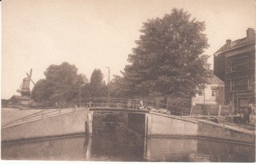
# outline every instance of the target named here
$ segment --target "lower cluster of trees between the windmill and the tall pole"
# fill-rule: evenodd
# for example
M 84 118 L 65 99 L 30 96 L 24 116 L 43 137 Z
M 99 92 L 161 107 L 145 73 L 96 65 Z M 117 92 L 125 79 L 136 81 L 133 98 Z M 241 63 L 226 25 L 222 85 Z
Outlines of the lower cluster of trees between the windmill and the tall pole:
M 107 96 L 108 86 L 103 81 L 103 74 L 95 69 L 90 78 L 83 73 L 77 75 L 77 68 L 66 62 L 60 65 L 52 64 L 44 72 L 45 79 L 36 82 L 31 97 L 37 101 L 49 100 L 63 103 L 79 98 Z

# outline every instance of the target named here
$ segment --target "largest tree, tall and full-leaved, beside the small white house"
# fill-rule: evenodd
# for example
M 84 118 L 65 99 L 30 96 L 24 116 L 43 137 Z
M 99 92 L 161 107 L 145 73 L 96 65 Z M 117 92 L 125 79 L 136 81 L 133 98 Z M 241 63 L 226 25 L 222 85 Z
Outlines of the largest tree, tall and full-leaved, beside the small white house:
M 209 47 L 204 22 L 174 8 L 163 19 L 143 23 L 140 40 L 129 54 L 124 69 L 124 81 L 133 94 L 141 96 L 193 95 L 196 86 L 210 77 Z

